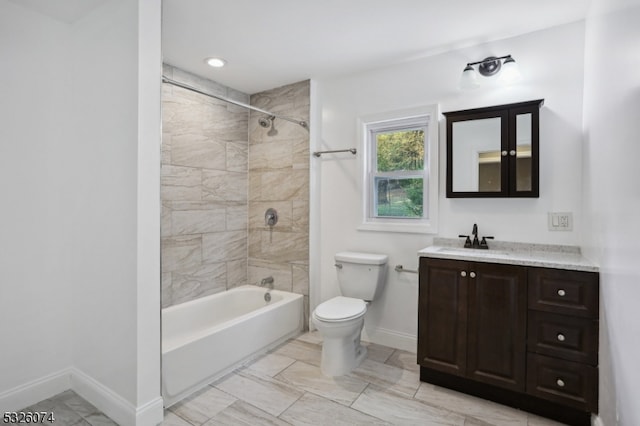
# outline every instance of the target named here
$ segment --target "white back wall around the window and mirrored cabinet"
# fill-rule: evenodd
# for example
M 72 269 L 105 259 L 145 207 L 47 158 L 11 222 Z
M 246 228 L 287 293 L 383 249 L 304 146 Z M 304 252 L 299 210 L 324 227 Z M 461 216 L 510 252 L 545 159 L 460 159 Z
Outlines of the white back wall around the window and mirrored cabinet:
M 502 241 L 578 244 L 581 226 L 581 150 L 584 23 L 496 41 L 435 57 L 343 78 L 318 81 L 322 123 L 317 149 L 356 146 L 356 121 L 361 115 L 439 103 L 441 111 L 455 111 L 544 98 L 540 114 L 540 198 L 445 198 L 444 122 L 440 137 L 439 235 L 457 237 L 477 223 L 481 235 Z M 480 77 L 482 88 L 461 92 L 458 81 L 467 62 L 490 55 L 512 54 L 523 80 L 501 87 Z M 359 149 L 359 152 L 362 152 Z M 393 266 L 415 269 L 416 252 L 432 235 L 357 231 L 361 223 L 360 154 L 323 156 L 312 161 L 320 182 L 320 256 L 317 259 L 320 300 L 338 294 L 333 254 L 340 250 L 387 253 L 387 286 L 366 319 L 369 338 L 415 350 L 417 333 L 417 276 L 398 274 Z M 574 214 L 573 232 L 547 230 L 547 212 Z M 315 291 L 318 291 L 316 288 Z

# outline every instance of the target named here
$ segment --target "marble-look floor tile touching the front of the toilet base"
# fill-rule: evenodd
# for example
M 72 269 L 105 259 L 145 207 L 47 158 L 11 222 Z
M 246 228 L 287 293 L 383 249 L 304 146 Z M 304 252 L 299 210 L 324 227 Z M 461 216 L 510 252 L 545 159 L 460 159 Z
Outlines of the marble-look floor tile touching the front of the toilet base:
M 300 361 L 291 364 L 276 379 L 343 405 L 351 405 L 368 384 L 349 375 L 324 376 L 319 367 Z

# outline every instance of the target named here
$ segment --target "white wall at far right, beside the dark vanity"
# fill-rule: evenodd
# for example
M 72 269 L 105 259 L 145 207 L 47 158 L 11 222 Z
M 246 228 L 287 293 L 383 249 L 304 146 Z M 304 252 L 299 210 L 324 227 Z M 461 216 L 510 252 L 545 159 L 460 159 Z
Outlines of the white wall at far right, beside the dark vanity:
M 592 10 L 586 33 L 583 247 L 600 264 L 600 415 L 606 425 L 637 425 L 640 2 L 596 0 Z

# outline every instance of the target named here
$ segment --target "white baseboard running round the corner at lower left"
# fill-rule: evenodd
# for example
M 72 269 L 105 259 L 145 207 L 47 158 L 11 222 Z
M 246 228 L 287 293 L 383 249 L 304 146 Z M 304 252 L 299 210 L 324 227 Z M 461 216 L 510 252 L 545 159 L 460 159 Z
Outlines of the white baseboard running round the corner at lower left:
M 160 396 L 135 407 L 113 390 L 73 367 L 0 393 L 0 413 L 21 410 L 68 389 L 73 389 L 122 426 L 155 426 L 162 423 L 164 418 Z

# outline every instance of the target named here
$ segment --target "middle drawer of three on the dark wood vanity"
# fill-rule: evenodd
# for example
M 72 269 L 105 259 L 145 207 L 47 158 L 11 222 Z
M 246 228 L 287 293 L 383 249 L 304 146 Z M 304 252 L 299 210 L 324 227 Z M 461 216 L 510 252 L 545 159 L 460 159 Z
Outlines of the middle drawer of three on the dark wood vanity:
M 529 311 L 527 350 L 569 361 L 598 364 L 598 322 Z

